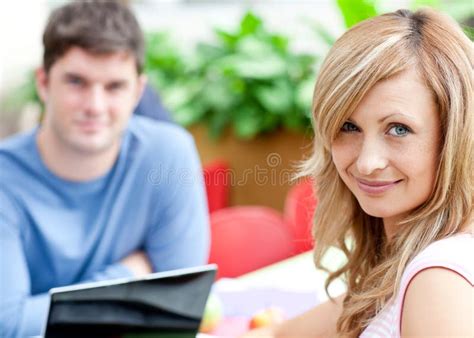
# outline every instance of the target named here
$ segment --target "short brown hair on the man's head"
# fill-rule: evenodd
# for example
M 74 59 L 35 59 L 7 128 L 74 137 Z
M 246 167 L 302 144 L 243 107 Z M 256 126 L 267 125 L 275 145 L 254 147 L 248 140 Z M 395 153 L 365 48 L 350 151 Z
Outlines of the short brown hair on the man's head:
M 44 30 L 43 46 L 46 72 L 71 47 L 94 54 L 127 51 L 138 73 L 143 70 L 143 32 L 133 13 L 117 1 L 73 1 L 57 8 Z

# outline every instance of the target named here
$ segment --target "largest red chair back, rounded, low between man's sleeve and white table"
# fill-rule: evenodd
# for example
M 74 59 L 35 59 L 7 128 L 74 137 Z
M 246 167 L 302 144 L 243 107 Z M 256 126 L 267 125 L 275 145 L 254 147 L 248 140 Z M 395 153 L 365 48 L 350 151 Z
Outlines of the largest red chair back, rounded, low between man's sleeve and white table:
M 210 263 L 218 278 L 237 277 L 291 257 L 293 235 L 283 217 L 267 207 L 231 207 L 211 214 Z

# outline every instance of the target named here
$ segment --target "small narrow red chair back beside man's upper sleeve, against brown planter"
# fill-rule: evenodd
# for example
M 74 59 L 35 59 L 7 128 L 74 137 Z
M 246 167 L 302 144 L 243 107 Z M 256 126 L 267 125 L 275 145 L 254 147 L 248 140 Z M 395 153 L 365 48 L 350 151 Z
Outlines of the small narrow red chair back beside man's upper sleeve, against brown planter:
M 229 205 L 230 171 L 225 161 L 214 161 L 204 166 L 209 213 Z

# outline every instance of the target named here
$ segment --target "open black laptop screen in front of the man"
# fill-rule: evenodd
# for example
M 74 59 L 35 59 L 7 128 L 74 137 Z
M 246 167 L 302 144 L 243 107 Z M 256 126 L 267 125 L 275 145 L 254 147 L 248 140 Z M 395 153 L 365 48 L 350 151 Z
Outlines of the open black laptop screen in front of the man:
M 44 338 L 191 338 L 215 265 L 54 288 Z

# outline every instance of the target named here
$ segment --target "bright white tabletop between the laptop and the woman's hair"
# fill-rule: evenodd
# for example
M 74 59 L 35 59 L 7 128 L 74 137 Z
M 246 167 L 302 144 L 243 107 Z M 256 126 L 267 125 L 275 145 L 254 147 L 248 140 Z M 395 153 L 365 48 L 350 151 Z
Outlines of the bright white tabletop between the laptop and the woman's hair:
M 331 270 L 344 262 L 337 250 L 329 250 L 323 264 Z M 212 332 L 218 337 L 236 337 L 248 330 L 250 318 L 259 310 L 278 307 L 286 318 L 297 316 L 327 300 L 324 282 L 327 273 L 314 266 L 312 252 L 291 257 L 233 279 L 220 279 L 213 288 L 223 304 L 224 319 Z M 336 280 L 329 292 L 345 291 Z

